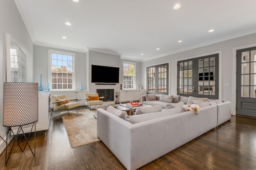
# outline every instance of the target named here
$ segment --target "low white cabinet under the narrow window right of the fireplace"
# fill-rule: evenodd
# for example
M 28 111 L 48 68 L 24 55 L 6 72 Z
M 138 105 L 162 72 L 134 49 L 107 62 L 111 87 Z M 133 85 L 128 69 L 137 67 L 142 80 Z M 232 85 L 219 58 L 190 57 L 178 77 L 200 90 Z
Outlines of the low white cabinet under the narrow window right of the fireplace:
M 119 94 L 120 102 L 129 102 L 130 100 L 139 101 L 140 96 L 146 94 L 146 90 L 121 90 Z

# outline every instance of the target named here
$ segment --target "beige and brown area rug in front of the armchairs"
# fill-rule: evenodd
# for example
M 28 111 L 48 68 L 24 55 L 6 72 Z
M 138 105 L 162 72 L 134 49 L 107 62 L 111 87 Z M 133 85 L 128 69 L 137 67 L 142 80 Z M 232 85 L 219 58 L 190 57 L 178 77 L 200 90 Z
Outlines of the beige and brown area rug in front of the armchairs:
M 61 117 L 64 123 L 71 148 L 100 141 L 97 137 L 96 112 L 87 109 L 76 111 L 62 111 Z

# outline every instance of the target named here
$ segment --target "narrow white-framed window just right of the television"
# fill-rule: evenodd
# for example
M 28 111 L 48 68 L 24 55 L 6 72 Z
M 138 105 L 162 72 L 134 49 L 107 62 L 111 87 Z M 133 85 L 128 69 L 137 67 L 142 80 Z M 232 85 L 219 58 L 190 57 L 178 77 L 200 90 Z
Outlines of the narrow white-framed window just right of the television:
M 134 89 L 135 86 L 135 64 L 123 63 L 123 87 Z

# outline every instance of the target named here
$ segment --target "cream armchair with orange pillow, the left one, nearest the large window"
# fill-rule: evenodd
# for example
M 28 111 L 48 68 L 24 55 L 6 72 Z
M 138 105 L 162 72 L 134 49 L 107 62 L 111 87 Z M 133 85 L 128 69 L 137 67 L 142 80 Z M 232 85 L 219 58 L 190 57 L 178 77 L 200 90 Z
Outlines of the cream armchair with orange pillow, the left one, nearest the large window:
M 68 109 L 76 108 L 76 113 L 77 113 L 77 107 L 80 106 L 80 103 L 79 102 L 69 102 L 72 100 L 76 100 L 76 99 L 68 100 L 65 94 L 52 96 L 52 105 L 53 105 L 52 111 L 68 110 Z M 68 115 L 69 115 L 69 111 L 68 111 Z

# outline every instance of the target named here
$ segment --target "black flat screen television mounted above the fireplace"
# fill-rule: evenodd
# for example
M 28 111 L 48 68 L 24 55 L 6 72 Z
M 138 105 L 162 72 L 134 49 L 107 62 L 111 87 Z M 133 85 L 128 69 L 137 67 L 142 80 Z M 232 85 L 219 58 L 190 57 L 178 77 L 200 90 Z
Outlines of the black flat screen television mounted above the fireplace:
M 119 67 L 92 65 L 92 83 L 119 83 Z

